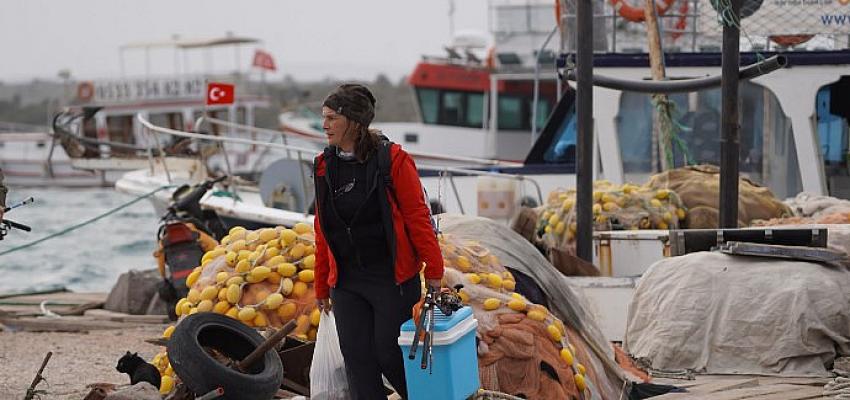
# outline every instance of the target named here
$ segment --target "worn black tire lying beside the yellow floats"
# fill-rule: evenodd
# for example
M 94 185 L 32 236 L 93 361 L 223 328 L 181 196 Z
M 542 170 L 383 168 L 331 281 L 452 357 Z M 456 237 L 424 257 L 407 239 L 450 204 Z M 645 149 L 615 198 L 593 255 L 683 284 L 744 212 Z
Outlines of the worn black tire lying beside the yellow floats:
M 213 358 L 214 349 L 232 360 L 242 360 L 263 343 L 257 331 L 215 313 L 184 318 L 168 340 L 168 359 L 180 380 L 197 396 L 219 387 L 222 399 L 271 399 L 283 381 L 280 356 L 272 349 L 245 373 Z

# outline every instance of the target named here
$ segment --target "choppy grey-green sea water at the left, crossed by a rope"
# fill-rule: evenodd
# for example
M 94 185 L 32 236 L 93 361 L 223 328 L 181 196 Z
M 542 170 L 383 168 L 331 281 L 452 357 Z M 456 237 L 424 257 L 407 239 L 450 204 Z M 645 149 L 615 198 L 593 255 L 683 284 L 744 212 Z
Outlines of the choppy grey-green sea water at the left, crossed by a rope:
M 11 188 L 6 205 L 32 196 L 32 204 L 4 218 L 32 227 L 12 229 L 0 240 L 0 253 L 108 213 L 136 197 L 99 189 Z M 0 294 L 65 287 L 108 292 L 121 273 L 156 268 L 158 216 L 142 199 L 98 221 L 53 239 L 0 255 Z

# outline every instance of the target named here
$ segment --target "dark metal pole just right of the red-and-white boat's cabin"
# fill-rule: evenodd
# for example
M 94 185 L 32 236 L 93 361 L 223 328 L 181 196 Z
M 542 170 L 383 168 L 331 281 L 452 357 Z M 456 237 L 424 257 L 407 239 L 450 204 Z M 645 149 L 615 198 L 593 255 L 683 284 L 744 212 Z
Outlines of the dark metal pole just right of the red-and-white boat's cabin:
M 576 255 L 593 262 L 593 3 L 576 3 Z

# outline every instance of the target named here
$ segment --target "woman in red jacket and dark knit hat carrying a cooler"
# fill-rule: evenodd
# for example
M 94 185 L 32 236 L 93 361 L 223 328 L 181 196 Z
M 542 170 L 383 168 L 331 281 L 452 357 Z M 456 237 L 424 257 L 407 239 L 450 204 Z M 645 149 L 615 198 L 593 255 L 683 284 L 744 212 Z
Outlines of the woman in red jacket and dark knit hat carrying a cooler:
M 338 87 L 322 116 L 328 147 L 315 160 L 316 299 L 326 312 L 333 305 L 353 398 L 384 398 L 381 374 L 406 398 L 399 329 L 422 295 L 422 267 L 429 286 L 439 288 L 443 276 L 422 183 L 413 159 L 369 129 L 369 89 Z M 389 152 L 389 176 L 380 151 Z

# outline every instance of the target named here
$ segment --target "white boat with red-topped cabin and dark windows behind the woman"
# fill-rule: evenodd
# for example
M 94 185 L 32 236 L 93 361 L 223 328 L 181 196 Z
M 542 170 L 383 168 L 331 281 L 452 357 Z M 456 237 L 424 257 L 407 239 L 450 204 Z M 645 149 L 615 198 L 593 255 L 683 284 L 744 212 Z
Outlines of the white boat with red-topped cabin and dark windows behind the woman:
M 491 3 L 489 37 L 459 31 L 444 47 L 446 54 L 423 56 L 408 75 L 418 120 L 374 123 L 374 128 L 412 153 L 523 161 L 561 92 L 553 63 L 556 49 L 540 47 L 555 25 L 552 2 Z M 531 15 L 547 30 L 526 24 Z M 303 113 L 281 113 L 281 130 L 324 138 L 320 121 L 292 119 L 298 115 Z

